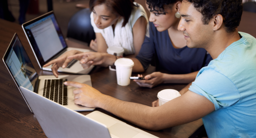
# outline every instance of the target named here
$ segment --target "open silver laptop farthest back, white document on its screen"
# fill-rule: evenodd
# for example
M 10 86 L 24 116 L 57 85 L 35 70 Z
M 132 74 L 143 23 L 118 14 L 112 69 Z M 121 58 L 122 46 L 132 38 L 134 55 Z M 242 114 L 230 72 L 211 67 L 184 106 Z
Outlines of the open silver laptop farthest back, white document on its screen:
M 78 50 L 81 52 L 89 52 L 89 49 L 80 49 L 67 47 L 64 36 L 55 18 L 53 11 L 45 13 L 22 25 L 23 31 L 29 41 L 36 60 L 43 70 L 50 70 L 52 65 L 43 67 L 49 61 L 58 58 L 63 53 L 70 50 Z M 58 72 L 88 74 L 92 67 L 83 69 L 79 61 L 72 60 L 67 67 L 58 69 Z

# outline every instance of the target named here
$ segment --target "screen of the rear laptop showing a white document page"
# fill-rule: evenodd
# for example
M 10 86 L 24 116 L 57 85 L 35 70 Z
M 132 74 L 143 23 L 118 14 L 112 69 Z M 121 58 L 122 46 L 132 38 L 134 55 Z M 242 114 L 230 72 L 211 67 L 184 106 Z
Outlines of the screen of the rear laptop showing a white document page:
M 53 12 L 23 24 L 41 66 L 67 47 Z

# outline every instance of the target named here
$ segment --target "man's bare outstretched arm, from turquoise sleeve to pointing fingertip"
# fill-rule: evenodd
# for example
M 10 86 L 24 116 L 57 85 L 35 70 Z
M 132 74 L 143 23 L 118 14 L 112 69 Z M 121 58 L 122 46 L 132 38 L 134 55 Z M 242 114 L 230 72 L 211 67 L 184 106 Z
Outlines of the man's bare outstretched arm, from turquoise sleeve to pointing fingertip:
M 74 86 L 75 103 L 86 107 L 98 107 L 149 130 L 161 130 L 202 118 L 215 110 L 214 104 L 192 91 L 159 107 L 149 107 L 121 101 L 101 94 L 95 88 L 78 82 L 65 82 Z

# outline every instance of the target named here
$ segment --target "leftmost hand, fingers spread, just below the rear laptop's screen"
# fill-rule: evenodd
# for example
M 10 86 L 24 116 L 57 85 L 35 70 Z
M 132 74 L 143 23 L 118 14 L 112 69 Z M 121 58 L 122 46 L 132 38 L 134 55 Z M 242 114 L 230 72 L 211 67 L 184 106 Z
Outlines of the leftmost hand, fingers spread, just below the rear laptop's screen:
M 48 67 L 50 66 L 51 64 L 52 65 L 52 73 L 53 75 L 58 78 L 58 69 L 59 67 L 62 67 L 62 68 L 65 68 L 67 67 L 67 64 L 72 61 L 72 59 L 68 59 L 67 57 L 70 56 L 70 55 L 75 55 L 77 53 L 81 53 L 81 51 L 77 51 L 77 50 L 70 50 L 70 51 L 67 51 L 65 52 L 63 55 L 59 56 L 58 58 L 48 62 L 47 64 L 45 64 L 43 67 Z M 80 60 L 80 59 L 77 59 L 77 60 Z

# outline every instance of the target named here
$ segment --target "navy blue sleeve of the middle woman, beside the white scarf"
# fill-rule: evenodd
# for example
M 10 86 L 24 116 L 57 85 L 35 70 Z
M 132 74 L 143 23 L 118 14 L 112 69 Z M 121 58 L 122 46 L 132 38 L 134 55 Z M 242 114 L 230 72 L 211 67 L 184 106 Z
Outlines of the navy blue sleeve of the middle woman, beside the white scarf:
M 154 53 L 155 53 L 154 44 L 150 42 L 150 38 L 145 36 L 145 39 L 141 46 L 139 54 L 136 56 L 136 58 L 142 64 L 144 70 L 146 70 L 149 64 L 151 63 Z

